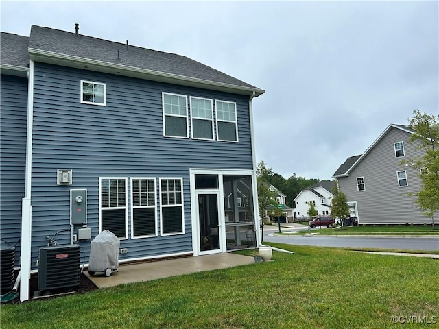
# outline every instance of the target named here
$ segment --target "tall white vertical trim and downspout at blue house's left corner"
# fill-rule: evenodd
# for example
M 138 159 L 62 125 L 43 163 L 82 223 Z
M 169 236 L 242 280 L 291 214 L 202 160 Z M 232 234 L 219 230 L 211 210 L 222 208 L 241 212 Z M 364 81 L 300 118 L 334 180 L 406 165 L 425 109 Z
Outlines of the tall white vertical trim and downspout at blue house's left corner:
M 27 89 L 27 141 L 26 141 L 26 173 L 25 197 L 21 209 L 21 282 L 20 300 L 29 300 L 29 279 L 31 269 L 31 240 L 32 240 L 32 127 L 34 125 L 34 61 L 30 61 Z

